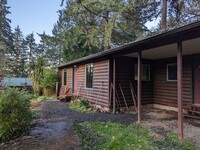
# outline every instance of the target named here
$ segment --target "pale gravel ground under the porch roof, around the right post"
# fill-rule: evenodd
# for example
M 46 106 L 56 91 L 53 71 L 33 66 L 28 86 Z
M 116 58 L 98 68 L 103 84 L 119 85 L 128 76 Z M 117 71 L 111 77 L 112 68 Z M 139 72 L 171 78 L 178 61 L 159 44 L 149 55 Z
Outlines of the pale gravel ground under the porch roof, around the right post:
M 177 112 L 150 109 L 145 111 L 144 114 L 142 126 L 150 128 L 160 135 L 164 135 L 168 131 L 178 133 Z M 184 118 L 183 122 L 184 139 L 190 140 L 200 147 L 200 120 Z

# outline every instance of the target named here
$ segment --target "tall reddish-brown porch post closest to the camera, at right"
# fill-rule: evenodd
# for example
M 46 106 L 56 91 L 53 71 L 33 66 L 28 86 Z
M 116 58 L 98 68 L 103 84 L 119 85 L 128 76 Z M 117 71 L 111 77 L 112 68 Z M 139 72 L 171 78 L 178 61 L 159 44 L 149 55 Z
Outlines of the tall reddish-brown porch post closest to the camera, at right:
M 177 43 L 177 93 L 178 93 L 178 136 L 183 139 L 183 94 L 182 94 L 182 42 Z

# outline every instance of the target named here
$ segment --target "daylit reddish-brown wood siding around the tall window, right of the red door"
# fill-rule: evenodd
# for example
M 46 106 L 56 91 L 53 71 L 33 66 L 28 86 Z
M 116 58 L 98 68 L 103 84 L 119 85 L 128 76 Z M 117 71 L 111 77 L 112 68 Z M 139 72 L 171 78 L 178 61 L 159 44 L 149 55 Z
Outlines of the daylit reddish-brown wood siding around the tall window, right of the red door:
M 85 65 L 78 66 L 77 91 L 79 96 L 91 103 L 108 107 L 109 98 L 109 61 L 93 63 L 93 89 L 85 89 Z

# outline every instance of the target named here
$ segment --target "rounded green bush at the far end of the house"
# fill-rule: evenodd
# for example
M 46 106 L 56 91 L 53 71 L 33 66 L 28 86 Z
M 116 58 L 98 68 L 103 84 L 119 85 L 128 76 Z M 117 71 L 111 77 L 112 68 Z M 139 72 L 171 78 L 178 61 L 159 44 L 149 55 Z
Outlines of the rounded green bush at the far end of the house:
M 55 93 L 57 79 L 57 73 L 54 70 L 44 70 L 41 86 L 45 96 L 51 96 Z

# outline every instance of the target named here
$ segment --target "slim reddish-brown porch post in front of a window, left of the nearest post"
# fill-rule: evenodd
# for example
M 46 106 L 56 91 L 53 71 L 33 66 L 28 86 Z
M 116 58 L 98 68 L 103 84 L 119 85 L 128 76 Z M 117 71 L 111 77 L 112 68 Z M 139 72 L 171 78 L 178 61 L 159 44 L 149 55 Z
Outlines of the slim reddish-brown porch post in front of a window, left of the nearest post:
M 138 123 L 141 122 L 141 90 L 142 90 L 142 83 L 141 83 L 141 66 L 142 66 L 142 59 L 141 59 L 142 52 L 138 52 L 138 87 L 137 87 L 137 99 L 138 99 Z

